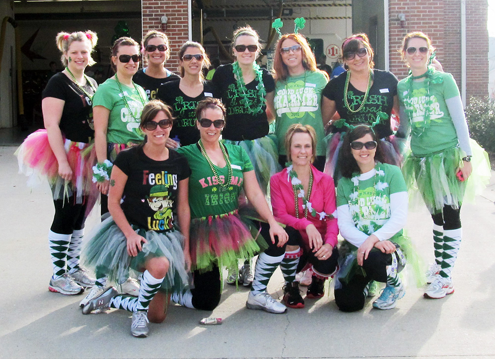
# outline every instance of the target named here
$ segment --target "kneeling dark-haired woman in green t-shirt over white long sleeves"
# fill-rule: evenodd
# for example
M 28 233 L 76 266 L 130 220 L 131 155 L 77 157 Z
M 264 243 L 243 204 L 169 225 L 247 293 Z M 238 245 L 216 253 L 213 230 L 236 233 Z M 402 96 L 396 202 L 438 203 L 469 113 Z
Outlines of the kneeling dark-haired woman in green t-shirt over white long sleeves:
M 346 124 L 347 126 L 347 124 Z M 363 309 L 371 281 L 385 282 L 378 309 L 392 309 L 405 294 L 398 271 L 402 250 L 411 253 L 402 235 L 407 220 L 407 189 L 400 169 L 383 163 L 382 143 L 371 126 L 347 126 L 342 145 L 342 175 L 337 187 L 340 271 L 335 302 L 341 311 Z

